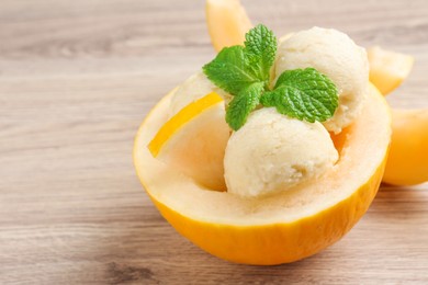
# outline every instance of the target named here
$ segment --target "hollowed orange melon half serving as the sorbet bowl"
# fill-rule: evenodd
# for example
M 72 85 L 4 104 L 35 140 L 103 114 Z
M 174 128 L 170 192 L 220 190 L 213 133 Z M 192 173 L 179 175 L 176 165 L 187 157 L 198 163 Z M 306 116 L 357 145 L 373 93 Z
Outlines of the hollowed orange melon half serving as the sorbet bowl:
M 340 158 L 318 180 L 268 197 L 244 198 L 205 189 L 155 159 L 147 145 L 168 121 L 172 92 L 142 124 L 134 163 L 161 215 L 193 243 L 228 261 L 281 264 L 339 240 L 367 212 L 383 175 L 391 114 L 374 88 L 361 115 L 334 138 Z

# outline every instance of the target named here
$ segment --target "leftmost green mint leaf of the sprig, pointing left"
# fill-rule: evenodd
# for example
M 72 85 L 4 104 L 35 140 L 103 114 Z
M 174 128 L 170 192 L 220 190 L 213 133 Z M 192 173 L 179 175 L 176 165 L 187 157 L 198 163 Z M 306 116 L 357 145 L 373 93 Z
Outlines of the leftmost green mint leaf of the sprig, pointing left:
M 243 46 L 223 48 L 217 57 L 202 69 L 214 84 L 232 95 L 259 81 L 249 68 Z

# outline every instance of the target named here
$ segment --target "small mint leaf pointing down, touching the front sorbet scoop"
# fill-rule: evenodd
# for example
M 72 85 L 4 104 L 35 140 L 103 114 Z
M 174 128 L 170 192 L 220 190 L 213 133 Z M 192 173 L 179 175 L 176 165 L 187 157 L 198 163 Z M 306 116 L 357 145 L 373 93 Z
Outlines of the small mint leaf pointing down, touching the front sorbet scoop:
M 247 122 L 249 113 L 260 103 L 263 83 L 257 82 L 243 89 L 228 104 L 226 122 L 230 128 L 238 130 Z

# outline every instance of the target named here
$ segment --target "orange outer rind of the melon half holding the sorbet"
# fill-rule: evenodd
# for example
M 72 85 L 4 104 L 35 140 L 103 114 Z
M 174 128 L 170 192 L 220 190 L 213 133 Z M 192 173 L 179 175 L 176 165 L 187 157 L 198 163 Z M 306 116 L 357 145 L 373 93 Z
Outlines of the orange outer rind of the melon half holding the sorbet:
M 352 196 L 293 224 L 244 227 L 215 225 L 185 217 L 150 198 L 180 235 L 217 258 L 251 265 L 291 263 L 331 246 L 357 224 L 378 193 L 385 161 Z

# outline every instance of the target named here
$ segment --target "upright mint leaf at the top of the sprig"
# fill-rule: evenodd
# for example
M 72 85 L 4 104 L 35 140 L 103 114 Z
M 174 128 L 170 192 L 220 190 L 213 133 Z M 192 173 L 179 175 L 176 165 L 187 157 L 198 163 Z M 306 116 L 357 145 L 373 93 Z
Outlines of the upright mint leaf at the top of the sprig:
M 245 52 L 249 59 L 249 66 L 255 76 L 268 86 L 270 68 L 277 55 L 277 37 L 272 31 L 259 24 L 251 29 L 245 38 Z

